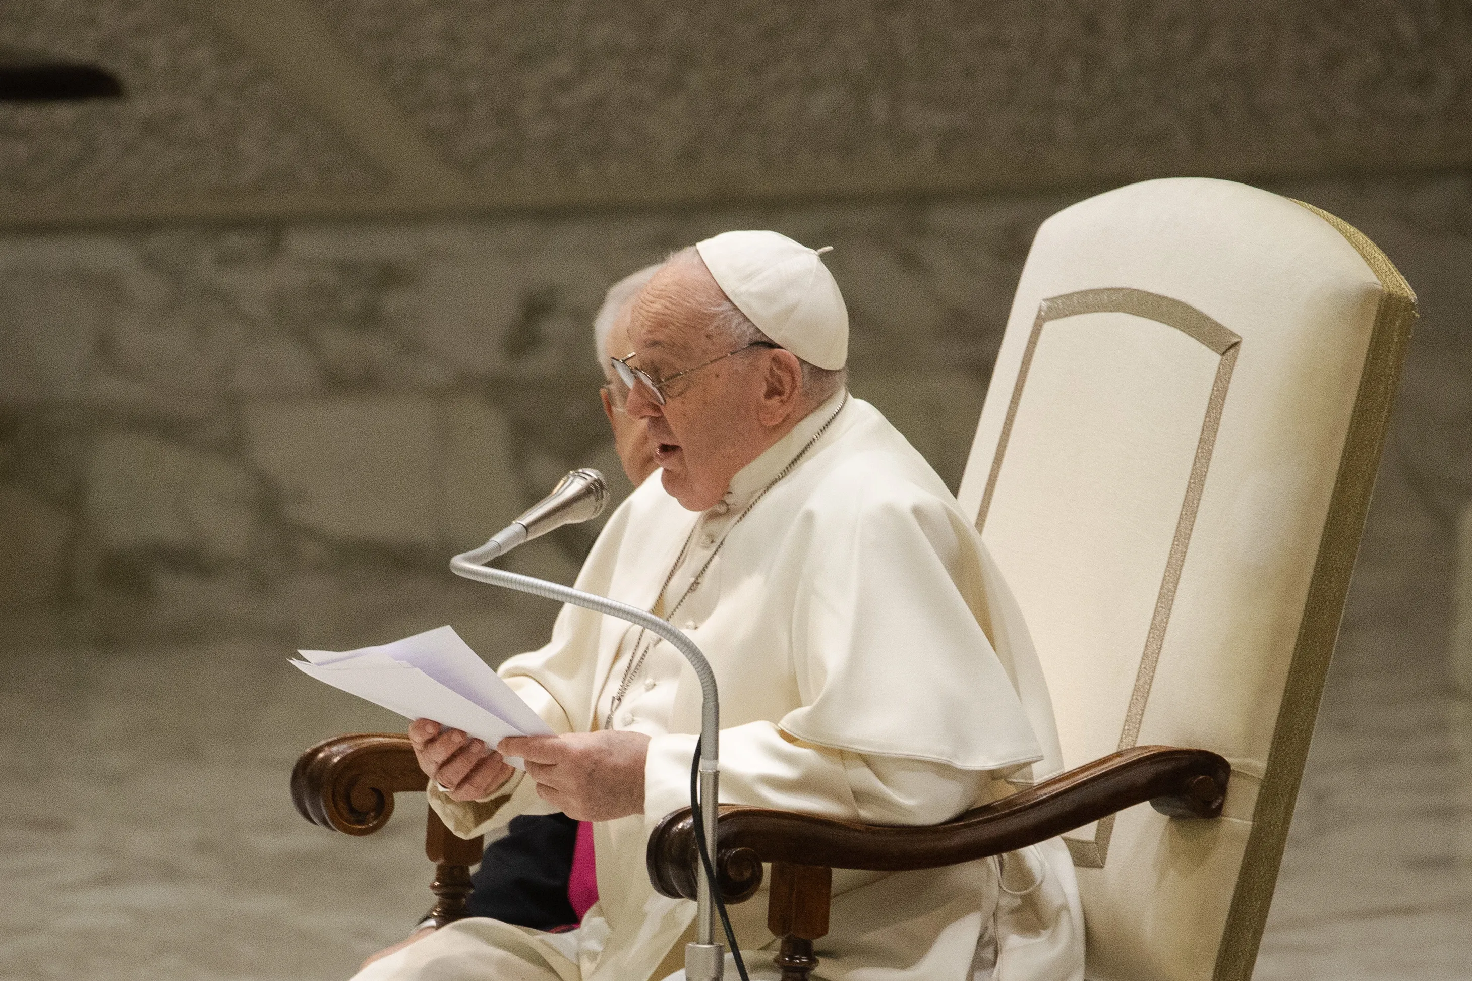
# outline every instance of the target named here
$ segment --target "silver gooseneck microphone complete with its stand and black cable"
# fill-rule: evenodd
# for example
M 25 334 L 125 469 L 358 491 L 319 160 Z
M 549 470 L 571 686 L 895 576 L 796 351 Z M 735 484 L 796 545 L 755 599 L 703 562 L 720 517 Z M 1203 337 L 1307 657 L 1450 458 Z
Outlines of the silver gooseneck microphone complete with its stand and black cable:
M 548 600 L 571 603 L 573 606 L 581 606 L 605 616 L 617 616 L 630 624 L 637 624 L 651 634 L 670 641 L 690 662 L 690 668 L 695 669 L 695 677 L 701 682 L 701 740 L 696 747 L 696 759 L 690 760 L 692 771 L 695 771 L 692 774 L 692 784 L 695 785 L 692 785 L 690 807 L 699 815 L 696 822 L 701 825 L 702 834 L 698 835 L 698 847 L 701 850 L 701 866 L 704 866 L 705 874 L 696 875 L 696 938 L 695 943 L 684 947 L 684 977 L 689 981 L 720 981 L 726 966 L 726 950 L 717 940 L 717 935 L 724 927 L 726 937 L 732 941 L 732 953 L 736 956 L 736 969 L 745 981 L 746 969 L 740 962 L 735 932 L 730 931 L 730 922 L 715 891 L 715 872 L 711 863 L 715 846 L 715 802 L 720 793 L 718 741 L 721 707 L 720 694 L 715 688 L 715 672 L 711 671 L 705 654 L 701 653 L 701 649 L 683 631 L 671 627 L 649 610 L 642 610 L 637 606 L 629 606 L 627 603 L 620 603 L 618 600 L 611 600 L 595 593 L 584 593 L 583 590 L 548 582 L 546 579 L 536 579 L 530 575 L 493 569 L 484 565 L 537 535 L 545 535 L 553 528 L 596 518 L 606 504 L 608 487 L 604 484 L 602 474 L 598 471 L 573 471 L 552 488 L 551 494 L 498 531 L 490 541 L 473 552 L 465 552 L 450 559 L 450 571 L 455 575 L 475 579 L 477 582 L 489 582 L 490 585 L 530 593 Z

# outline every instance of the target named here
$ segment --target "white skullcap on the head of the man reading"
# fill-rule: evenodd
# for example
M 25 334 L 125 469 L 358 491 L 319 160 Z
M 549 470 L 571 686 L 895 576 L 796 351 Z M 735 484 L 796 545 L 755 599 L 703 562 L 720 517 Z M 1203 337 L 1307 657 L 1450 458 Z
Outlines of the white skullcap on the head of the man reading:
M 817 368 L 848 362 L 848 307 L 817 249 L 774 231 L 721 232 L 695 249 L 762 334 Z

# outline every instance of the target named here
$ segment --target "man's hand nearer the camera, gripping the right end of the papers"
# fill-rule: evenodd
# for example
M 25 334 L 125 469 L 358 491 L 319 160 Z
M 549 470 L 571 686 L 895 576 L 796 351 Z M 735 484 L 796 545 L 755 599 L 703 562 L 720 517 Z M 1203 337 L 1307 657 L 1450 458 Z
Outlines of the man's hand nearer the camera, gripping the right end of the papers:
M 574 821 L 614 821 L 643 813 L 642 732 L 509 735 L 496 747 L 527 760 L 537 796 Z

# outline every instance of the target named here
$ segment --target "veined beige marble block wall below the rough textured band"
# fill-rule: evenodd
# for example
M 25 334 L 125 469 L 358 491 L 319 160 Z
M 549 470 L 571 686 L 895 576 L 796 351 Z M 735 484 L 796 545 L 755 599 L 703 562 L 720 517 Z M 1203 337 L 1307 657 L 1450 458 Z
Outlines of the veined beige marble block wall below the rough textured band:
M 1282 190 L 1362 225 L 1422 293 L 1387 453 L 1412 493 L 1387 521 L 1450 538 L 1472 497 L 1472 191 Z M 954 488 L 1032 234 L 1070 200 L 0 237 L 0 619 L 12 640 L 343 646 L 450 621 L 493 652 L 537 643 L 553 610 L 445 563 L 573 466 L 627 493 L 593 310 L 626 272 L 736 226 L 836 247 L 852 388 Z M 515 560 L 570 581 L 592 534 Z M 1366 562 L 1381 609 L 1426 575 Z

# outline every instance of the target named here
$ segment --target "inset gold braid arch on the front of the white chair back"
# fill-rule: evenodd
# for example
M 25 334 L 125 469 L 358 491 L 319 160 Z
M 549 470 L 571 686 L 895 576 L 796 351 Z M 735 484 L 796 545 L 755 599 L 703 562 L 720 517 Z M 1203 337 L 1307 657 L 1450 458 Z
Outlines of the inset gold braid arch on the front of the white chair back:
M 1216 432 L 1222 424 L 1226 388 L 1232 382 L 1232 368 L 1236 365 L 1236 353 L 1242 338 L 1194 306 L 1160 296 L 1158 293 L 1147 293 L 1145 290 L 1080 290 L 1079 293 L 1048 297 L 1039 303 L 1038 316 L 1032 324 L 1032 334 L 1027 335 L 1027 347 L 1022 356 L 1022 366 L 1017 369 L 1017 381 L 1013 385 L 1011 402 L 1007 406 L 1007 418 L 1002 421 L 1001 437 L 997 441 L 997 454 L 992 457 L 992 468 L 986 477 L 982 506 L 976 513 L 977 532 L 986 524 L 986 512 L 992 504 L 997 478 L 1001 474 L 1002 457 L 1007 453 L 1007 443 L 1011 438 L 1017 407 L 1022 404 L 1023 385 L 1027 382 L 1027 372 L 1032 368 L 1032 357 L 1038 350 L 1042 328 L 1050 321 L 1078 316 L 1080 313 L 1130 313 L 1156 321 L 1157 324 L 1176 328 L 1220 356 L 1216 378 L 1211 382 L 1211 396 L 1207 399 L 1206 416 L 1201 421 L 1201 435 L 1197 440 L 1195 459 L 1191 463 L 1191 477 L 1186 481 L 1185 499 L 1181 502 L 1181 515 L 1176 519 L 1175 537 L 1170 540 L 1166 571 L 1160 579 L 1160 591 L 1156 596 L 1156 609 L 1150 618 L 1150 629 L 1145 634 L 1145 649 L 1139 657 L 1139 671 L 1135 675 L 1129 709 L 1125 713 L 1125 727 L 1119 737 L 1119 749 L 1126 750 L 1133 747 L 1139 740 L 1139 725 L 1145 716 L 1145 703 L 1150 700 L 1150 687 L 1156 679 L 1160 650 L 1166 643 L 1170 609 L 1176 602 L 1181 569 L 1186 560 L 1186 547 L 1191 544 L 1191 529 L 1195 527 L 1197 509 L 1201 504 L 1201 491 L 1206 487 L 1207 468 L 1211 465 L 1211 450 L 1216 446 Z M 1064 837 L 1063 841 L 1069 846 L 1069 853 L 1073 856 L 1075 865 L 1080 868 L 1104 868 L 1113 832 L 1114 815 L 1110 815 L 1095 825 L 1092 841 L 1070 837 Z

